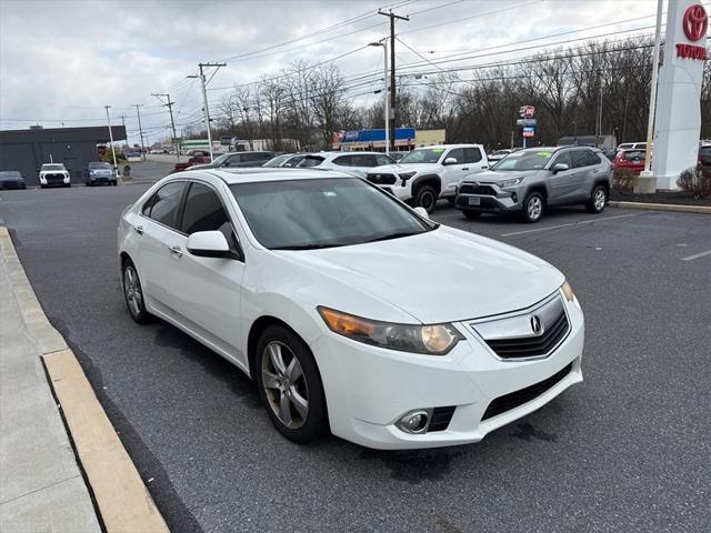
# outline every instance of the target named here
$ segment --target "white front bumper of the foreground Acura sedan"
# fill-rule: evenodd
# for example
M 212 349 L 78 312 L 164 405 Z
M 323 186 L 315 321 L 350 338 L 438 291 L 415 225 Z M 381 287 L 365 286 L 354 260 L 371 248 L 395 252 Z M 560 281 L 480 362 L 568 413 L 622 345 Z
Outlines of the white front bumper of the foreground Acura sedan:
M 443 356 L 383 350 L 330 332 L 321 335 L 311 349 L 323 378 L 332 433 L 381 450 L 449 446 L 478 442 L 535 411 L 582 381 L 583 315 L 577 301 L 565 306 L 568 336 L 553 353 L 531 361 L 497 358 L 467 323 L 454 324 L 467 339 Z M 540 394 L 483 420 L 494 400 L 561 371 Z M 448 406 L 455 409 L 443 431 L 411 434 L 395 425 L 412 410 Z

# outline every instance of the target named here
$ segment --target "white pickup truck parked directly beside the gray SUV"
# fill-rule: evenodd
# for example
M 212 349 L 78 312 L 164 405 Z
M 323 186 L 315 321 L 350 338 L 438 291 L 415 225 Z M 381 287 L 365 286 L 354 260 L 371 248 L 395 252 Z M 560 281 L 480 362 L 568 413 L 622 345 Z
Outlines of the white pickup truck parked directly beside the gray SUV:
M 440 144 L 414 149 L 398 164 L 372 169 L 367 178 L 400 200 L 412 200 L 431 213 L 438 199 L 453 202 L 457 185 L 464 175 L 488 168 L 481 144 Z

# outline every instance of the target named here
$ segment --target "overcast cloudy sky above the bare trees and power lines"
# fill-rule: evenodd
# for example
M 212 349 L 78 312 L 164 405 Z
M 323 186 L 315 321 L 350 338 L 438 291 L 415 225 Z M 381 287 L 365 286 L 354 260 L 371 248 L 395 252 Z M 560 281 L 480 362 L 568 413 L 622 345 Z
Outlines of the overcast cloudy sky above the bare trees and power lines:
M 210 82 L 211 111 L 233 84 L 278 73 L 296 60 L 321 62 L 348 53 L 336 62 L 347 77 L 382 69 L 381 49 L 358 49 L 389 33 L 388 19 L 377 11 L 391 6 L 410 16 L 410 21 L 397 22 L 399 38 L 428 60 L 455 53 L 469 58 L 444 64 L 449 68 L 530 54 L 541 49 L 529 47 L 563 40 L 578 46 L 577 39 L 603 33 L 650 33 L 657 2 L 0 0 L 0 128 L 100 125 L 106 123 L 103 105 L 110 104 L 112 122 L 120 124 L 126 115 L 130 139 L 138 142 L 136 108 L 130 105 L 142 103 L 143 128 L 152 142 L 167 134 L 170 122 L 153 92 L 169 92 L 177 102 L 178 128 L 200 119 L 199 82 L 186 77 L 201 61 L 228 62 Z M 539 39 L 563 32 L 569 33 Z M 521 48 L 529 49 L 505 53 Z M 404 44 L 395 49 L 399 68 L 422 62 Z M 240 57 L 247 53 L 252 54 Z M 460 74 L 467 77 L 465 71 Z M 372 91 L 381 83 L 373 78 L 352 87 L 349 95 L 368 103 L 380 98 Z

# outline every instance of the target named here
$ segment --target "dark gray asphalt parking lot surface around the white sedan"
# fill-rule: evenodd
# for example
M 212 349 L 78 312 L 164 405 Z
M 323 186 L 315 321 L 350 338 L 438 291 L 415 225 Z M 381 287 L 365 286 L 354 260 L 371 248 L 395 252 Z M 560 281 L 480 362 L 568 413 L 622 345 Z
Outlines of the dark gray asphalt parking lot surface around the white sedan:
M 708 215 L 571 208 L 531 225 L 441 203 L 435 220 L 568 275 L 585 382 L 479 444 L 378 452 L 286 441 L 240 371 L 131 321 L 116 225 L 147 187 L 7 191 L 0 223 L 171 530 L 711 530 Z

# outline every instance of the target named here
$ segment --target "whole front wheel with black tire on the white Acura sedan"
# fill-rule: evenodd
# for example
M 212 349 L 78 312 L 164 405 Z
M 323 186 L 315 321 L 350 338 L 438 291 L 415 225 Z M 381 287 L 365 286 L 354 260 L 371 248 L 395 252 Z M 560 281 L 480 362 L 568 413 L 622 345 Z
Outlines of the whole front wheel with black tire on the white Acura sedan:
M 328 426 L 326 395 L 309 346 L 283 325 L 270 325 L 259 338 L 257 386 L 267 413 L 287 439 L 307 444 Z

